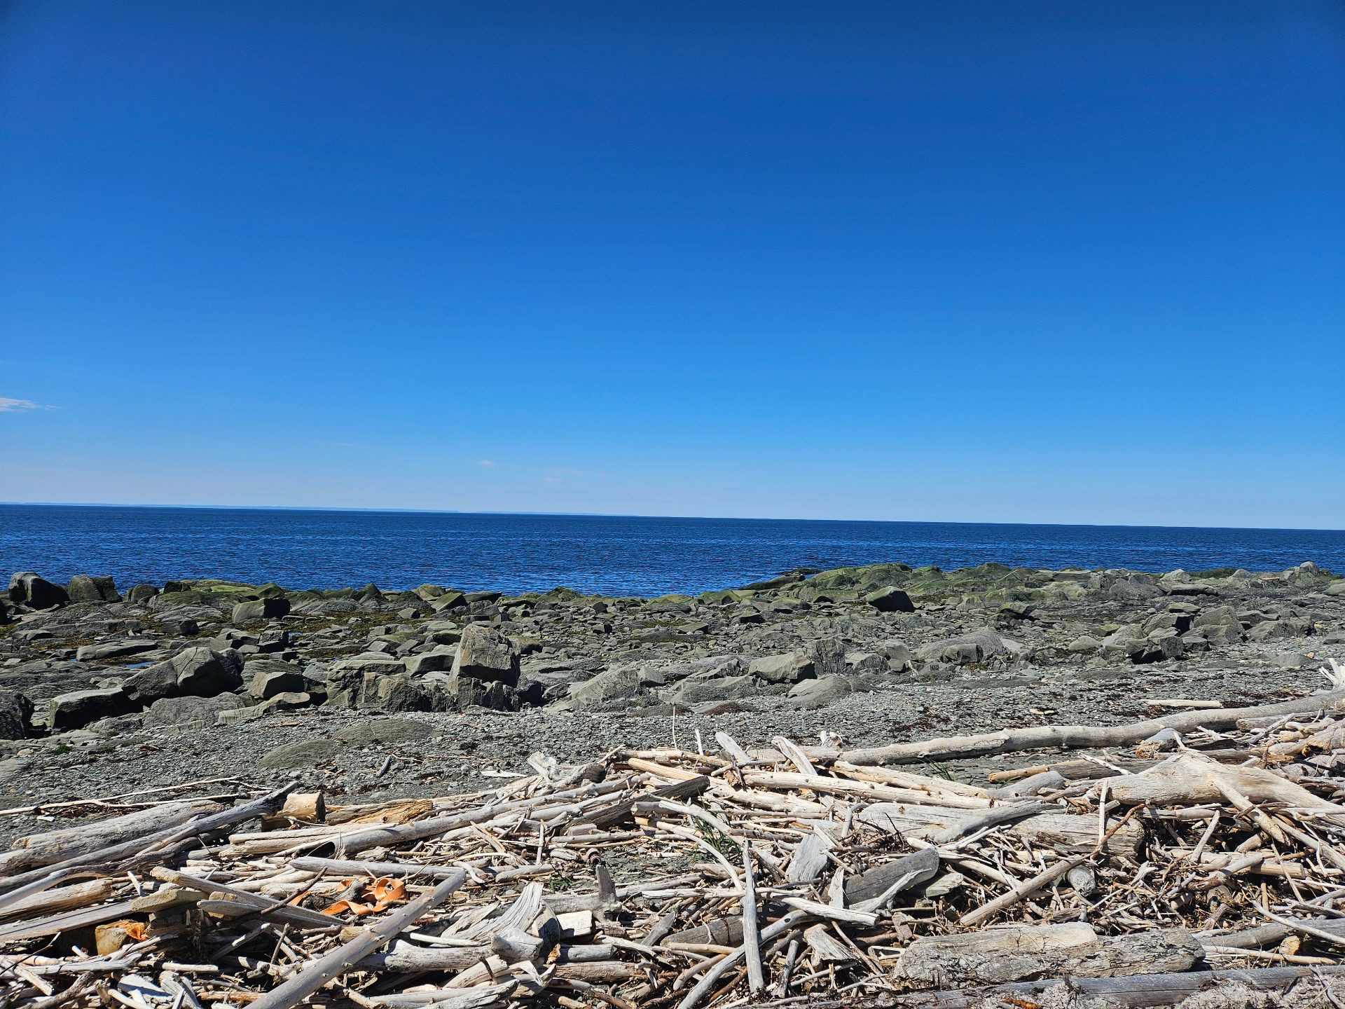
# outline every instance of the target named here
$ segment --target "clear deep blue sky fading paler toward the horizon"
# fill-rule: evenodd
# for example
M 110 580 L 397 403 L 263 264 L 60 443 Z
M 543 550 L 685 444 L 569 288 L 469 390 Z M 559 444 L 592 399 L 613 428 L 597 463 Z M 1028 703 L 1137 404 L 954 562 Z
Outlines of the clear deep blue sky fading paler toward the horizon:
M 1345 527 L 1345 7 L 16 0 L 0 500 Z

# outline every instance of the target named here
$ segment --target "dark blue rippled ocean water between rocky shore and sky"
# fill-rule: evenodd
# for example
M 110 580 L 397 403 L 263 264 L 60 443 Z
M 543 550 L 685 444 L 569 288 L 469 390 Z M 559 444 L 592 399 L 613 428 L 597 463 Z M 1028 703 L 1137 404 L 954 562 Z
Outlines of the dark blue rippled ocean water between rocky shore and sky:
M 1345 572 L 1345 530 L 814 522 L 414 511 L 0 504 L 0 570 L 276 581 L 285 588 L 695 593 L 799 566 Z

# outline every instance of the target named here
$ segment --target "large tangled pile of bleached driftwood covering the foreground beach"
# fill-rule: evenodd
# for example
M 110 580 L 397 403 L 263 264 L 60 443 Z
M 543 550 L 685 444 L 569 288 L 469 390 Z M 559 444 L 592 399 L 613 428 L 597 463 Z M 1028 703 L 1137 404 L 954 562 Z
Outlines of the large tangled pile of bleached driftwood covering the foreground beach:
M 1057 983 L 1170 1005 L 1235 977 L 1334 1001 L 1342 702 L 878 751 L 720 733 L 375 806 L 101 800 L 122 811 L 0 853 L 0 998 L 1030 1009 Z M 1089 755 L 985 787 L 932 763 L 1046 747 Z

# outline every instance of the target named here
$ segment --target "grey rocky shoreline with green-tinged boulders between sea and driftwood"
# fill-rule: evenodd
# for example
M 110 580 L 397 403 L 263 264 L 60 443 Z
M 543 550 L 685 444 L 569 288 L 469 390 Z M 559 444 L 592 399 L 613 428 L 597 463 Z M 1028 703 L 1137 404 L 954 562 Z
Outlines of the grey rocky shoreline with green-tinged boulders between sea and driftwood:
M 0 802 L 210 778 L 416 794 L 518 774 L 534 751 L 694 747 L 717 728 L 751 744 L 869 745 L 1106 724 L 1307 693 L 1329 657 L 1345 657 L 1345 578 L 1310 562 L 886 564 L 655 599 L 225 581 L 122 592 L 22 572 L 0 604 Z M 4 830 L 23 826 L 12 815 Z

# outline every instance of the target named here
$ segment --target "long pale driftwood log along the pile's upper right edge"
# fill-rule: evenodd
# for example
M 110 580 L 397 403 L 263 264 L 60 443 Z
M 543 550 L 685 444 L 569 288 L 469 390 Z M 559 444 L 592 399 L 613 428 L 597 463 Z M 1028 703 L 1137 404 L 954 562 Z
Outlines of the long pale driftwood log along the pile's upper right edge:
M 963 760 L 990 753 L 1013 753 L 1021 749 L 1100 749 L 1143 743 L 1163 729 L 1188 732 L 1190 729 L 1227 729 L 1240 718 L 1280 714 L 1299 714 L 1334 708 L 1345 701 L 1345 690 L 1299 697 L 1294 701 L 1258 705 L 1255 708 L 1219 708 L 1212 710 L 1177 712 L 1162 718 L 1128 722 L 1126 725 L 1030 725 L 1022 729 L 1001 729 L 976 736 L 947 736 L 923 743 L 896 743 L 890 747 L 847 749 L 839 759 L 851 764 L 915 764 L 931 757 Z

